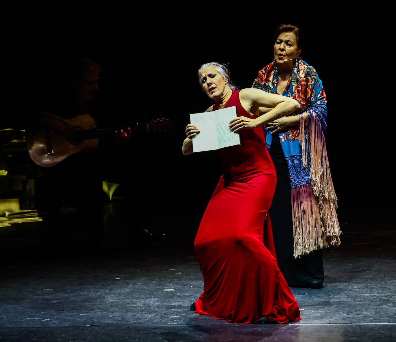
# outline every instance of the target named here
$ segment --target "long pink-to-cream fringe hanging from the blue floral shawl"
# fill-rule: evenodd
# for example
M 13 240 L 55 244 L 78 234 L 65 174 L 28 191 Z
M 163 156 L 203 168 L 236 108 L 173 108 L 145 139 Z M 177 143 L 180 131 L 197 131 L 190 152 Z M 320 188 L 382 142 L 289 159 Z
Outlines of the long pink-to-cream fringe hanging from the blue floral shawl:
M 331 179 L 326 141 L 320 122 L 312 110 L 307 119 L 300 114 L 303 168 L 308 167 L 305 132 L 311 157 L 311 184 L 291 189 L 294 257 L 341 244 L 341 229 L 336 213 L 337 196 Z

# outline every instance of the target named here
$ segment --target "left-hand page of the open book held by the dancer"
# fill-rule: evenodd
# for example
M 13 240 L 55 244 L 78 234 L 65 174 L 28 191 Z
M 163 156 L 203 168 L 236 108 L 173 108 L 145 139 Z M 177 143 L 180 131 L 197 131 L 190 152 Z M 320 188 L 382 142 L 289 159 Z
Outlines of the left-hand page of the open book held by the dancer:
M 201 131 L 192 139 L 192 150 L 194 152 L 218 149 L 213 111 L 190 114 L 190 123 Z

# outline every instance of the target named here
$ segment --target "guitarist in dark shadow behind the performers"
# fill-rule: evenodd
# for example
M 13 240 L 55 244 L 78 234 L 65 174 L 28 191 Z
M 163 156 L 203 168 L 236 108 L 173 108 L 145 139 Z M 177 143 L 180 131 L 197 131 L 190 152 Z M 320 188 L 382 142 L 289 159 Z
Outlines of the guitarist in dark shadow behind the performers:
M 29 154 L 38 165 L 36 208 L 43 219 L 48 215 L 55 245 L 97 248 L 103 239 L 104 161 L 128 143 L 131 130 L 114 130 L 103 139 L 83 138 L 82 133 L 93 134 L 103 119 L 96 97 L 101 65 L 79 58 L 66 69 L 64 87 L 47 90 L 50 96 L 35 108 L 27 129 Z

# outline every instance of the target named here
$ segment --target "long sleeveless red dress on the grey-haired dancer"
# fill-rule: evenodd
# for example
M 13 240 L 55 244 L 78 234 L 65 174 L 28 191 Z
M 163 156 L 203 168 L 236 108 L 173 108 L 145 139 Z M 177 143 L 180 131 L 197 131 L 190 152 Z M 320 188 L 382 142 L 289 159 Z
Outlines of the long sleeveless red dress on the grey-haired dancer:
M 224 107 L 236 106 L 238 116 L 254 118 L 239 92 L 233 90 Z M 276 173 L 263 128 L 241 130 L 240 138 L 241 145 L 220 149 L 224 173 L 194 240 L 204 277 L 195 312 L 230 323 L 257 323 L 261 317 L 298 321 L 299 306 L 275 258 L 268 209 Z

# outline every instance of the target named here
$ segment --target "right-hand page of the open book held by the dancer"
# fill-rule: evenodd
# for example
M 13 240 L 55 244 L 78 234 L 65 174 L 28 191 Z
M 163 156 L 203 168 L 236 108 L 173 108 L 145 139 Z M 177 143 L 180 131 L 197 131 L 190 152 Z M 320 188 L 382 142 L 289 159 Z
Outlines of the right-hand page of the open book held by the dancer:
M 218 148 L 241 144 L 239 134 L 231 132 L 228 127 L 230 121 L 235 117 L 237 117 L 236 106 L 222 108 L 215 111 Z

